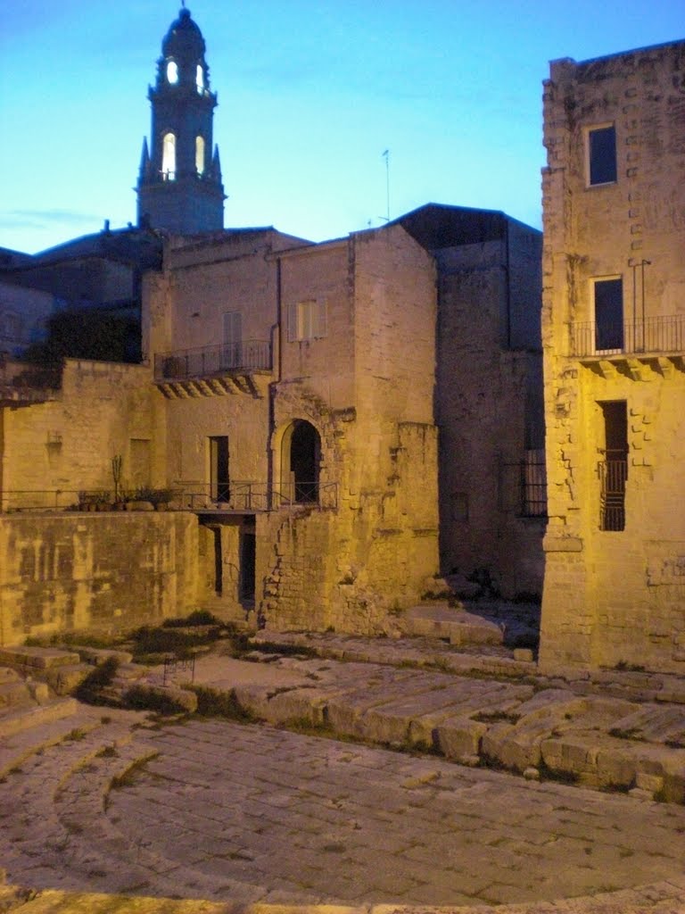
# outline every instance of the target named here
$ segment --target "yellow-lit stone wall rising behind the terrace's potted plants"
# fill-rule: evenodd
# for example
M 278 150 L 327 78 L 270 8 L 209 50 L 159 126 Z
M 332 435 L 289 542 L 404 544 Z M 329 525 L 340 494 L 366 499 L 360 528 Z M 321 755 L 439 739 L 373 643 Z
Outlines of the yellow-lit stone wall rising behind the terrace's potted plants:
M 76 503 L 79 490 L 112 492 L 117 454 L 125 486 L 163 484 L 162 398 L 151 381 L 144 366 L 68 359 L 53 399 L 5 407 L 5 508 L 41 497 L 54 505 L 56 490 L 60 506 Z M 145 468 L 134 468 L 133 452 Z M 26 491 L 45 495 L 19 494 Z

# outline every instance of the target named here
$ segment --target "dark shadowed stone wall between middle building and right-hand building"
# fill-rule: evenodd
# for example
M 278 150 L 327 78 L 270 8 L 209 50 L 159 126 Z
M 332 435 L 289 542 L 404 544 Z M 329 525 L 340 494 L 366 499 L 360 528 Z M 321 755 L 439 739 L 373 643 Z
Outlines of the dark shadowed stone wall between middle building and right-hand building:
M 531 397 L 539 235 L 523 228 L 509 257 L 507 239 L 437 252 L 440 567 L 485 569 L 507 596 L 539 593 L 543 578 L 543 521 L 520 516 L 520 462 L 543 425 Z

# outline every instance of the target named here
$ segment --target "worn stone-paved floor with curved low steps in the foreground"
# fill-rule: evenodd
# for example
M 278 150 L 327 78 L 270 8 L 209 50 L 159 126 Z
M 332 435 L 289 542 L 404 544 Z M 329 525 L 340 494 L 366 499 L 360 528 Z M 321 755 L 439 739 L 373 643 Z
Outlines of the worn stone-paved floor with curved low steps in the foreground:
M 10 881 L 234 903 L 592 895 L 554 910 L 684 909 L 681 806 L 268 726 L 131 721 L 98 720 L 6 775 Z

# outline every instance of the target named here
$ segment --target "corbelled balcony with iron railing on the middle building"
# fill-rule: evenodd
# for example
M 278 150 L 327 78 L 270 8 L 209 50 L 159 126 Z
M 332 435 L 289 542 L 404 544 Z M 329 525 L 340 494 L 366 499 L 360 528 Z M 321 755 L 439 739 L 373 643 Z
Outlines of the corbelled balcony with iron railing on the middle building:
M 269 374 L 267 340 L 177 349 L 154 356 L 154 382 L 167 399 L 248 394 L 259 397 L 255 376 Z

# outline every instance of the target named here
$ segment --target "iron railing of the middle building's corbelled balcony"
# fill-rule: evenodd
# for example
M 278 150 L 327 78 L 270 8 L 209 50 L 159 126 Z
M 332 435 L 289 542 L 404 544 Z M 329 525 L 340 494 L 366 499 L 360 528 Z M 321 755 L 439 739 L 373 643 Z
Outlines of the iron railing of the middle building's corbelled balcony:
M 224 373 L 252 374 L 271 369 L 271 346 L 268 340 L 245 340 L 242 343 L 205 345 L 195 349 L 177 349 L 154 356 L 155 381 L 176 381 Z

